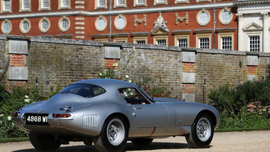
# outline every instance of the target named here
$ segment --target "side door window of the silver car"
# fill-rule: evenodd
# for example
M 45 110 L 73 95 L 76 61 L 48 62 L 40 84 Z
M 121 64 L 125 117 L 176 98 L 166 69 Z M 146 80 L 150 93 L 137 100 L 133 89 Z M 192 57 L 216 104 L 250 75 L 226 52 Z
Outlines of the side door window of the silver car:
M 149 104 L 136 88 L 119 88 L 118 91 L 125 98 L 125 101 L 130 104 Z

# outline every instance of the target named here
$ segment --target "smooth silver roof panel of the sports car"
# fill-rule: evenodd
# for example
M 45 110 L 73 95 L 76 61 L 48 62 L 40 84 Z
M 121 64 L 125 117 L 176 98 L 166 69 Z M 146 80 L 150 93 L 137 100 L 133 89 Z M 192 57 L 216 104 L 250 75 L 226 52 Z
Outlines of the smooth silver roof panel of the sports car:
M 110 79 L 110 78 L 93 78 L 93 79 L 78 81 L 76 83 L 93 84 L 93 85 L 100 86 L 105 89 L 106 88 L 130 88 L 130 87 L 138 88 L 138 86 L 135 85 L 134 83 Z M 76 83 L 73 83 L 73 84 L 76 84 Z

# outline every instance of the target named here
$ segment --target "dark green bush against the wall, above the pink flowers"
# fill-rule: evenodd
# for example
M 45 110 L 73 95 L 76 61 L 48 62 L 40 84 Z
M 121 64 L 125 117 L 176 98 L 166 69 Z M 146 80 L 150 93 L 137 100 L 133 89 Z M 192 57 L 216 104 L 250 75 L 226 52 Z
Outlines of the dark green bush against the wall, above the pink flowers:
M 267 106 L 270 105 L 270 80 L 247 81 L 234 88 L 226 84 L 218 90 L 211 90 L 208 97 L 219 112 L 237 113 L 243 106 L 255 101 Z

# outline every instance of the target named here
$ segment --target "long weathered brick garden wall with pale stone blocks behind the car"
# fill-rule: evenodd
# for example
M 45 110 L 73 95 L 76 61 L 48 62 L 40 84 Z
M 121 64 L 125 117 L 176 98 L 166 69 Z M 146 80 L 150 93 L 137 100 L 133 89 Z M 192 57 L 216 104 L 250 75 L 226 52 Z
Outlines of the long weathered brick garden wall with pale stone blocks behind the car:
M 0 81 L 8 88 L 35 86 L 37 78 L 38 86 L 48 91 L 98 78 L 99 71 L 117 61 L 123 76 L 152 78 L 152 86 L 172 88 L 172 96 L 191 102 L 203 102 L 203 92 L 225 83 L 235 86 L 264 78 L 270 63 L 266 53 L 42 37 L 0 35 L 0 46 L 0 76 L 10 56 L 9 70 Z

